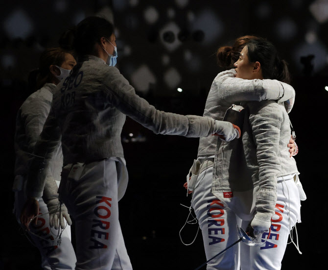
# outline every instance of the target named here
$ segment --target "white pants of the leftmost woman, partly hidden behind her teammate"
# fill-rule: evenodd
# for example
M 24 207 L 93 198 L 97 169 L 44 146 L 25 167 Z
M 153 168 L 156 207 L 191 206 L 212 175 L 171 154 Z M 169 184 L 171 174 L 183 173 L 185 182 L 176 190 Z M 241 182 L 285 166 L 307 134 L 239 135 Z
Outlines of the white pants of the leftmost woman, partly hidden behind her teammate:
M 26 184 L 26 181 L 25 181 Z M 20 216 L 25 202 L 24 189 L 15 192 L 15 214 L 17 221 L 20 222 Z M 76 263 L 75 252 L 70 242 L 70 226 L 67 225 L 62 232 L 62 242 L 57 244 L 58 230 L 50 228 L 49 214 L 47 205 L 41 198 L 39 200 L 40 217 L 38 218 L 37 225 L 30 224 L 29 236 L 33 243 L 39 249 L 42 260 L 42 268 L 45 270 L 64 270 L 74 269 Z M 40 237 L 35 236 L 39 235 Z M 52 241 L 54 239 L 54 241 Z

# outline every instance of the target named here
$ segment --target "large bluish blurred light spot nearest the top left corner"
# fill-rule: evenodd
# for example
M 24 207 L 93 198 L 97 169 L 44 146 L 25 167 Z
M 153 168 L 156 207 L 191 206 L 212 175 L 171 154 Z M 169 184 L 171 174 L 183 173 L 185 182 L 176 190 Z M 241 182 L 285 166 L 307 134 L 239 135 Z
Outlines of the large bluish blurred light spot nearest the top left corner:
M 26 38 L 34 30 L 33 21 L 22 9 L 10 13 L 4 20 L 4 30 L 10 38 Z

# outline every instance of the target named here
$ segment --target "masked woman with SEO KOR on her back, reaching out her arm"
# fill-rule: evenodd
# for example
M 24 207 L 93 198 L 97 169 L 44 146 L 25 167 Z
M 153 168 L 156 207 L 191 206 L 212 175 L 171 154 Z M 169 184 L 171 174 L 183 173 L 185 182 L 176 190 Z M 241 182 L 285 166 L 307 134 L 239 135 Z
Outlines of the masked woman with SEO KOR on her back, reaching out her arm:
M 35 154 L 51 158 L 62 142 L 64 168 L 59 196 L 76 224 L 77 270 L 132 269 L 118 221 L 118 201 L 127 186 L 120 134 L 128 115 L 155 133 L 186 137 L 239 133 L 233 124 L 199 116 L 156 110 L 136 95 L 114 67 L 117 57 L 114 27 L 98 17 L 76 28 L 78 63 L 58 84 Z M 39 197 L 44 181 L 38 177 L 43 159 L 34 159 L 27 183 L 23 221 L 36 214 L 32 197 Z

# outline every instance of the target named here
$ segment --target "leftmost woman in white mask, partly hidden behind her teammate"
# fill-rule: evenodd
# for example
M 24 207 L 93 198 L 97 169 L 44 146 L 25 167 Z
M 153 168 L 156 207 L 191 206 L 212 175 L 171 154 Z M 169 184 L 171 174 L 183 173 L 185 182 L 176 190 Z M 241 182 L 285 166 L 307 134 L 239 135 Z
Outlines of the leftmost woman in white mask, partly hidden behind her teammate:
M 46 82 L 41 89 L 30 95 L 24 102 L 17 114 L 15 133 L 15 214 L 20 222 L 23 203 L 26 200 L 25 189 L 29 169 L 29 162 L 36 141 L 46 122 L 51 108 L 51 101 L 56 84 L 69 75 L 70 70 L 76 64 L 74 57 L 60 48 L 46 49 L 40 57 L 40 69 L 38 84 Z M 30 224 L 29 237 L 39 249 L 42 259 L 42 267 L 45 270 L 63 270 L 75 268 L 75 252 L 70 242 L 70 225 L 67 224 L 61 233 L 56 219 L 58 196 L 49 196 L 57 193 L 60 183 L 60 173 L 63 165 L 62 147 L 59 144 L 54 149 L 54 154 L 45 174 L 46 185 L 44 198 L 39 199 L 40 214 L 38 223 Z M 48 208 L 52 215 L 49 216 Z M 64 215 L 66 207 L 62 208 Z M 69 218 L 67 216 L 67 218 Z M 52 221 L 51 221 L 52 219 Z M 51 224 L 51 226 L 50 226 Z M 61 233 L 61 239 L 59 235 Z M 61 242 L 59 244 L 59 242 Z

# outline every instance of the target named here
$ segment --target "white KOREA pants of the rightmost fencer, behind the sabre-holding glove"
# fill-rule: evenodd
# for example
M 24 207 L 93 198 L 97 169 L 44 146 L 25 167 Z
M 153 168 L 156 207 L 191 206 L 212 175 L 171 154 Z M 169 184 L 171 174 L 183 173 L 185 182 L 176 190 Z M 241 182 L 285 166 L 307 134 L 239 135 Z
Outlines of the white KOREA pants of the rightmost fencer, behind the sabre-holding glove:
M 272 217 L 271 234 L 263 245 L 241 245 L 241 270 L 280 270 L 289 231 L 300 221 L 301 201 L 294 179 L 278 181 L 276 212 Z M 246 228 L 249 221 L 243 221 Z M 268 232 L 262 234 L 262 239 Z M 264 241 L 264 240 L 263 240 Z

